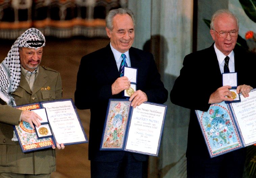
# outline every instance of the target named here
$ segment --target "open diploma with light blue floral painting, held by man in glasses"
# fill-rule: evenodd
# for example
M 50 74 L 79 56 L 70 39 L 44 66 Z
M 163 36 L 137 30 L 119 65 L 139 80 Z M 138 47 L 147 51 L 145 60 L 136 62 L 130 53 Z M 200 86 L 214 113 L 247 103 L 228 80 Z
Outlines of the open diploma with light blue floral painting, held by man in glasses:
M 195 110 L 211 158 L 256 143 L 256 89 L 240 99 Z

